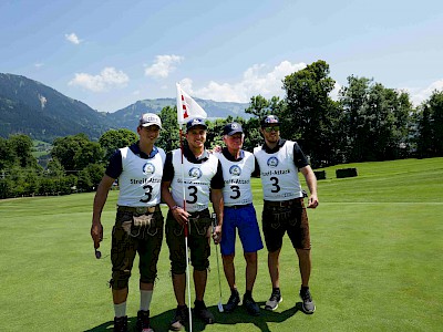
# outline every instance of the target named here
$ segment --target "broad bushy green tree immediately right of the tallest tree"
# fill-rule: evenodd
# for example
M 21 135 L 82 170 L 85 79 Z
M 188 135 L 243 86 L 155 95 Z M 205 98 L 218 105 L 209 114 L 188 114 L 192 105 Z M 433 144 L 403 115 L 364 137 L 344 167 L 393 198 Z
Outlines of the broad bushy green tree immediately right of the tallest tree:
M 340 91 L 347 162 L 394 159 L 408 155 L 412 104 L 409 95 L 365 77 L 348 77 Z

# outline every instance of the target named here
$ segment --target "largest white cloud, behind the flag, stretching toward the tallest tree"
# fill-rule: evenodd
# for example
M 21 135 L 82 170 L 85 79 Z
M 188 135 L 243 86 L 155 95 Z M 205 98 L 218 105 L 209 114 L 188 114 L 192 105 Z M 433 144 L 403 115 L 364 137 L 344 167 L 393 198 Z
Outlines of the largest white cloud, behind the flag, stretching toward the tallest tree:
M 264 64 L 255 64 L 244 72 L 241 81 L 237 83 L 210 81 L 207 86 L 193 91 L 192 80 L 185 79 L 182 81 L 182 87 L 200 98 L 248 103 L 251 96 L 258 94 L 267 98 L 282 96 L 281 86 L 285 76 L 305 68 L 306 63 L 290 63 L 289 61 L 282 61 L 271 70 L 267 70 Z

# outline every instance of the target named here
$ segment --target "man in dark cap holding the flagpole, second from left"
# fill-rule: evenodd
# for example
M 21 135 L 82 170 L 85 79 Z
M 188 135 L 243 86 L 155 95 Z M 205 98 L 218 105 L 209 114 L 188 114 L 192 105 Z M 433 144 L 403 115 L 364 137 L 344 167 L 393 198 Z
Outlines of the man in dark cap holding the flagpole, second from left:
M 186 251 L 185 226 L 188 227 L 188 247 L 194 267 L 194 313 L 207 324 L 214 323 L 214 314 L 204 302 L 207 269 L 210 255 L 209 198 L 217 215 L 217 239 L 222 236 L 223 193 L 222 165 L 217 157 L 205 149 L 207 126 L 203 118 L 186 124 L 186 145 L 166 155 L 162 180 L 162 198 L 169 207 L 166 217 L 166 242 L 169 247 L 171 272 L 177 309 L 169 330 L 179 331 L 188 322 L 185 302 Z M 185 188 L 183 187 L 185 186 Z M 210 190 L 209 190 L 210 189 Z M 184 196 L 185 195 L 185 196 Z M 209 197 L 210 196 L 210 197 Z

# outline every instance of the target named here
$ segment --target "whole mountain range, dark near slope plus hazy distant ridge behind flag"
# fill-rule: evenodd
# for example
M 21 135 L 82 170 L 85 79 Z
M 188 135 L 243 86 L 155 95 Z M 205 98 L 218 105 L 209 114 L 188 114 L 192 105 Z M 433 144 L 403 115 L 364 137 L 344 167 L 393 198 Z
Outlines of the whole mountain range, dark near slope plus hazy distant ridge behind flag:
M 196 98 L 209 118 L 241 116 L 247 103 L 214 102 Z M 101 113 L 40 82 L 0 73 L 0 137 L 22 133 L 52 143 L 55 137 L 79 133 L 97 139 L 110 128 L 135 129 L 142 113 L 159 113 L 175 106 L 175 98 L 143 100 L 114 113 Z

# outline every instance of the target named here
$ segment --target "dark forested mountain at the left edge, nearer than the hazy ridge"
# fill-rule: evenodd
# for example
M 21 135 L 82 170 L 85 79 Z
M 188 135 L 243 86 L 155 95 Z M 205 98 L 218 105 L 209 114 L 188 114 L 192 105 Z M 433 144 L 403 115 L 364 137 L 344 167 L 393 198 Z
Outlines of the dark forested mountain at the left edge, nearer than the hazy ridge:
M 23 133 L 51 142 L 85 133 L 91 139 L 110 127 L 106 115 L 24 76 L 0 73 L 0 136 Z

